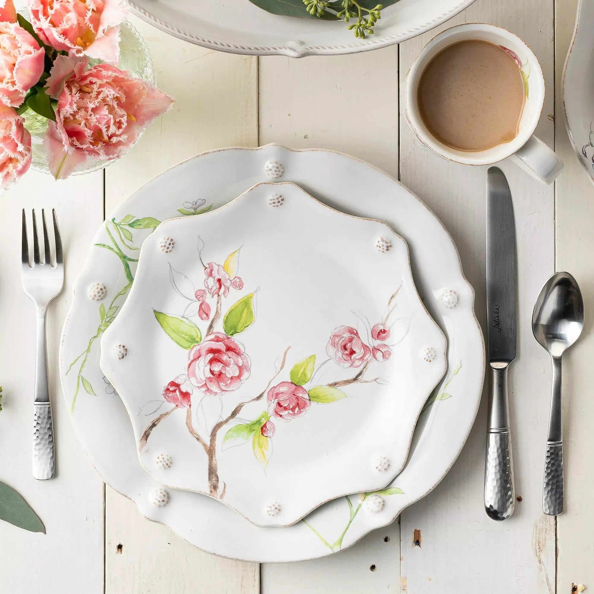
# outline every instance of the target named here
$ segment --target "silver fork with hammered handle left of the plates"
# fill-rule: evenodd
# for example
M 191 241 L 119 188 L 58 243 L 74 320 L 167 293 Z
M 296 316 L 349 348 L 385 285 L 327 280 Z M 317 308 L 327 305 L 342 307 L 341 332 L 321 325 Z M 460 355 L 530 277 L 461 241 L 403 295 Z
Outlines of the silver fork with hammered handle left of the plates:
M 23 208 L 23 290 L 33 300 L 37 310 L 37 350 L 35 358 L 35 399 L 33 413 L 33 476 L 39 480 L 53 478 L 55 462 L 53 453 L 52 403 L 48 387 L 48 349 L 46 347 L 45 319 L 48 305 L 64 285 L 64 261 L 62 240 L 58 229 L 56 211 L 52 210 L 53 235 L 55 238 L 55 266 L 49 247 L 48 226 L 43 220 L 43 263 L 39 255 L 37 221 L 33 210 L 33 266 L 29 264 L 29 242 L 27 241 L 27 218 Z

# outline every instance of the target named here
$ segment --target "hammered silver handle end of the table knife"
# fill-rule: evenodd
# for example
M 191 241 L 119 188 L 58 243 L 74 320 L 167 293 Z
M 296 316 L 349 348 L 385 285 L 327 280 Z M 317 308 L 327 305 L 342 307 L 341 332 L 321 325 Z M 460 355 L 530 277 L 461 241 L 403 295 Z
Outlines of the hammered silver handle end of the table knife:
M 505 520 L 514 511 L 514 473 L 508 431 L 486 435 L 485 511 L 493 520 Z

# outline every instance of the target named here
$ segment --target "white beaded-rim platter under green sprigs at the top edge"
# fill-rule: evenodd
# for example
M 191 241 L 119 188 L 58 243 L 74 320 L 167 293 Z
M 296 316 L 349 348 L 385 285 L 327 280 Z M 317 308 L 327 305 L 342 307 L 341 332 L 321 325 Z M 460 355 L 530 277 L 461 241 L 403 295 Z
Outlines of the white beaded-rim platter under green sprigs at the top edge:
M 445 23 L 472 2 L 399 0 L 381 11 L 375 33 L 366 39 L 356 39 L 342 21 L 279 17 L 248 0 L 128 0 L 128 5 L 147 23 L 205 48 L 301 58 L 365 52 L 400 43 Z

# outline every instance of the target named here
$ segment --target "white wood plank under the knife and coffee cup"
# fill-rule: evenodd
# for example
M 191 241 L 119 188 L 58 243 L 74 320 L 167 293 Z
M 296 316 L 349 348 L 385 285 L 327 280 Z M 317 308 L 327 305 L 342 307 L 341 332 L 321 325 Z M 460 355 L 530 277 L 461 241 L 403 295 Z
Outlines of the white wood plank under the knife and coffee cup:
M 553 4 L 536 0 L 478 0 L 447 26 L 497 24 L 519 34 L 541 61 L 549 92 L 537 133 L 553 146 Z M 444 29 L 445 27 L 442 27 Z M 437 31 L 400 46 L 400 72 Z M 401 89 L 402 93 L 402 89 Z M 476 290 L 476 311 L 485 326 L 486 168 L 449 163 L 422 149 L 401 118 L 401 180 L 440 217 L 453 235 Z M 530 318 L 539 289 L 554 270 L 554 190 L 504 162 L 516 213 L 519 260 L 518 352 L 511 366 L 516 504 L 511 519 L 497 523 L 484 511 L 486 398 L 459 460 L 424 500 L 405 510 L 402 534 L 402 592 L 555 591 L 554 519 L 543 516 L 542 464 L 551 372 L 548 355 L 532 337 Z M 485 394 L 486 396 L 486 394 Z M 415 529 L 421 546 L 413 545 Z

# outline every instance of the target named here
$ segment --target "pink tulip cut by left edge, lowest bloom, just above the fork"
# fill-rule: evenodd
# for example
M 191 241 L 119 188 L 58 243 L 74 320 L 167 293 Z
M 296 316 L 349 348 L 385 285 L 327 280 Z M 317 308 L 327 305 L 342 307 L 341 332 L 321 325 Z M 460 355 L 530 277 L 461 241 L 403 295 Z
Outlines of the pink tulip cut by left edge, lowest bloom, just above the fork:
M 16 110 L 0 104 L 0 182 L 2 189 L 31 165 L 31 135 Z

